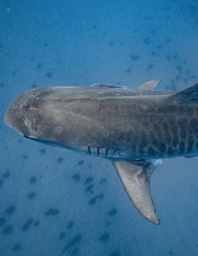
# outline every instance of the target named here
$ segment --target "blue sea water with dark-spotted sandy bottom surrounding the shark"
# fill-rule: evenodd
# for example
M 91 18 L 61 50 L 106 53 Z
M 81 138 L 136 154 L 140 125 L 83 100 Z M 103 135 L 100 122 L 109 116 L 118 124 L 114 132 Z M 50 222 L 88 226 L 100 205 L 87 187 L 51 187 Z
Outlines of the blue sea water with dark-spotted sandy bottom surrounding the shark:
M 198 0 L 0 1 L 0 256 L 197 256 L 198 159 L 151 178 L 144 219 L 110 161 L 59 151 L 4 124 L 35 87 L 198 82 Z

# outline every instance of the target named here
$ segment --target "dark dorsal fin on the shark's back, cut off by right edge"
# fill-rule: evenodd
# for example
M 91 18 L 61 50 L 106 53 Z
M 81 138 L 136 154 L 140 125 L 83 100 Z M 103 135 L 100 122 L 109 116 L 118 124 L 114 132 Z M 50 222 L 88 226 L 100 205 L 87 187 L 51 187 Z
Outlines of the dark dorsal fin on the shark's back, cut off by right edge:
M 198 101 L 198 83 L 168 96 L 170 99 Z

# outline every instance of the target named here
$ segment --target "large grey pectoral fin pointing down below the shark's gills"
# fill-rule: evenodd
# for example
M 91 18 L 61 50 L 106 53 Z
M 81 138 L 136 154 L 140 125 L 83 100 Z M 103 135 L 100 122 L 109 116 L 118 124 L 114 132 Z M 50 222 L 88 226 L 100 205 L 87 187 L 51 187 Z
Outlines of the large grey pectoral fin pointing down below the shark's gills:
M 150 194 L 150 176 L 162 163 L 159 160 L 146 161 L 112 161 L 118 176 L 137 210 L 150 222 L 159 225 L 155 207 Z

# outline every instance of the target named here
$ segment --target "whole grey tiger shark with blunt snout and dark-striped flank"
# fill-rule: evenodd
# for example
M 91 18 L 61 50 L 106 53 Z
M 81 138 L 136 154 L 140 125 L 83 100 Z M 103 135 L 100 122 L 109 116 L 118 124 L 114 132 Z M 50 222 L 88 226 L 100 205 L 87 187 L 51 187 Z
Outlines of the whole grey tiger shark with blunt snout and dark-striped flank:
M 46 87 L 17 96 L 5 123 L 22 136 L 61 149 L 109 159 L 137 210 L 160 224 L 150 177 L 161 159 L 198 156 L 198 83 L 155 91 L 109 84 Z

